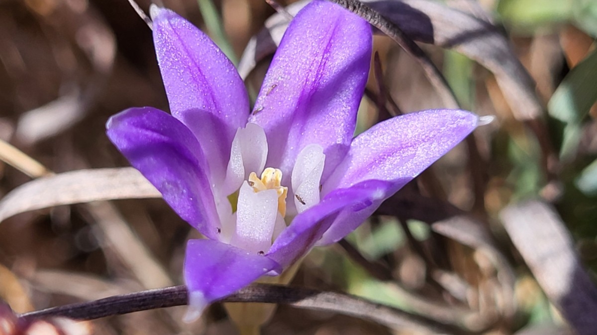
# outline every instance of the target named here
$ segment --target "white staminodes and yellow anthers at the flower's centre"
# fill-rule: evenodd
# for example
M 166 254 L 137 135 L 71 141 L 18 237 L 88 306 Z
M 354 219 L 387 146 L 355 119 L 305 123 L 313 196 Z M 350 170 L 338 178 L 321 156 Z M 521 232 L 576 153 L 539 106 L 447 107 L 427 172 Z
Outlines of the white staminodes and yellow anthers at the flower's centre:
M 309 144 L 300 151 L 289 195 L 295 206 L 289 207 L 285 220 L 288 187 L 281 185 L 281 170 L 264 169 L 267 151 L 266 135 L 260 126 L 248 123 L 246 128 L 238 129 L 226 178 L 221 185 L 214 185 L 214 194 L 219 194 L 216 206 L 222 229 L 220 240 L 255 253 L 267 253 L 292 216 L 319 203 L 325 163 L 321 145 Z

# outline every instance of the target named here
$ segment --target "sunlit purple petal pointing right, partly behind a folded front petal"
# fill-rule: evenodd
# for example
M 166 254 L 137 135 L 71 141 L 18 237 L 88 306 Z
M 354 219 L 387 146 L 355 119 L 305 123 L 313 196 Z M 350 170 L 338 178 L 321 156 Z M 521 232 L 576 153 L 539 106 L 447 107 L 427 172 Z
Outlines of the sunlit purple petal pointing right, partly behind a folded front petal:
M 378 123 L 353 140 L 349 154 L 325 182 L 322 194 L 376 179 L 390 182 L 384 200 L 462 141 L 478 121 L 479 117 L 468 111 L 426 110 Z M 371 207 L 370 213 L 380 203 Z M 318 244 L 340 240 L 366 217 L 338 219 Z

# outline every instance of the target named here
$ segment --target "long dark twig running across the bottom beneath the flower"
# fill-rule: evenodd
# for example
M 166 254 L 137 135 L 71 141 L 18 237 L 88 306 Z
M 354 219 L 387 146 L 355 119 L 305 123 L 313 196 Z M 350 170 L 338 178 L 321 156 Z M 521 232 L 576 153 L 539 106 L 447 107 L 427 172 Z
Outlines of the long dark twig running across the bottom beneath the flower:
M 391 328 L 411 328 L 436 334 L 468 334 L 460 328 L 441 324 L 419 315 L 368 302 L 348 294 L 327 291 L 256 284 L 239 290 L 237 293 L 222 299 L 221 302 L 285 303 L 298 308 L 332 311 L 365 318 Z M 186 287 L 174 286 L 122 294 L 92 302 L 42 309 L 41 311 L 22 314 L 20 317 L 67 317 L 78 320 L 93 320 L 147 309 L 186 305 L 186 303 Z

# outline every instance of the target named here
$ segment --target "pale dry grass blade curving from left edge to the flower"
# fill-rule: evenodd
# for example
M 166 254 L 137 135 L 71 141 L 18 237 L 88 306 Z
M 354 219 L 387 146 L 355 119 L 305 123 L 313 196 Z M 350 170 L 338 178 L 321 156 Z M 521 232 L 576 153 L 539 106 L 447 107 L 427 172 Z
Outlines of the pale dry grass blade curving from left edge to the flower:
M 27 182 L 0 200 L 0 222 L 29 210 L 124 198 L 159 198 L 158 190 L 133 168 L 90 169 Z

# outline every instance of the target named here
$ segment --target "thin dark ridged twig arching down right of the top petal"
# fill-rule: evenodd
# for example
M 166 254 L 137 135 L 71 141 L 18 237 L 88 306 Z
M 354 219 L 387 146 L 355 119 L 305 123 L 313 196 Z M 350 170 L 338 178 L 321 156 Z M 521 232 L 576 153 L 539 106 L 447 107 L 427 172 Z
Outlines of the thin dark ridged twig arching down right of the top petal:
M 377 11 L 372 10 L 358 0 L 329 0 L 338 4 L 352 13 L 359 15 L 367 20 L 371 25 L 379 29 L 381 32 L 393 39 L 404 51 L 413 56 L 415 60 L 423 68 L 427 78 L 431 84 L 438 91 L 439 96 L 444 101 L 448 108 L 458 108 L 458 102 L 454 96 L 454 92 L 448 85 L 438 67 L 427 57 L 423 49 L 421 49 L 412 39 L 408 38 L 402 30 L 387 20 Z

